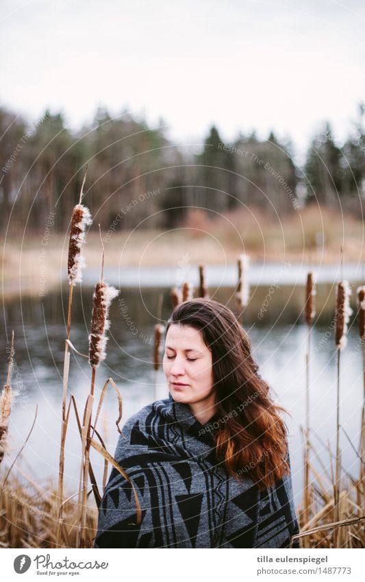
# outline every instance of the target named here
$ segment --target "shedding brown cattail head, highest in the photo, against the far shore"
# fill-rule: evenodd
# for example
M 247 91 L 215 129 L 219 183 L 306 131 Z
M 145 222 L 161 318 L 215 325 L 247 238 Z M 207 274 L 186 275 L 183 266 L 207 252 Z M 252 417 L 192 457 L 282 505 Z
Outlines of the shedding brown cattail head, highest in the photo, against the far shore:
M 85 266 L 81 252 L 86 237 L 86 227 L 91 223 L 90 210 L 84 204 L 77 204 L 73 209 L 68 243 L 67 272 L 68 282 L 72 285 L 81 282 L 82 269 Z

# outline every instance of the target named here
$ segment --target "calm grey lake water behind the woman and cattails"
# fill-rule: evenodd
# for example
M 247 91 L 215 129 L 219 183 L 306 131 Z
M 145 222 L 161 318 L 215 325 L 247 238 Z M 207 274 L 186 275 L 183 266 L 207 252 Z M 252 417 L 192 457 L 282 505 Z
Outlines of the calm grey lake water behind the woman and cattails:
M 282 267 L 280 267 L 282 268 Z M 275 269 L 279 273 L 279 267 Z M 351 299 L 355 312 L 355 289 L 360 281 L 357 271 L 349 272 L 353 287 Z M 294 271 L 291 271 L 291 275 Z M 134 276 L 136 271 L 134 271 Z M 290 434 L 292 479 L 297 502 L 301 498 L 303 480 L 303 439 L 300 426 L 305 420 L 305 353 L 307 326 L 303 323 L 304 287 L 288 279 L 288 271 L 281 271 L 273 291 L 270 282 L 256 282 L 251 287 L 251 300 L 244 311 L 243 323 L 260 365 L 260 372 L 275 394 L 275 400 L 291 414 L 287 417 Z M 333 275 L 333 273 L 332 273 Z M 353 277 L 351 279 L 351 276 Z M 265 276 L 266 277 L 266 276 Z M 125 277 L 128 280 L 128 276 Z M 168 319 L 171 302 L 165 287 L 164 275 L 160 287 L 144 284 L 136 287 L 125 284 L 114 300 L 110 311 L 112 326 L 108 342 L 108 358 L 97 370 L 97 394 L 108 377 L 112 377 L 123 396 L 123 422 L 140 408 L 153 401 L 153 386 L 157 398 L 166 398 L 166 380 L 162 370 L 153 371 L 153 325 L 158 321 L 158 302 L 162 295 L 162 319 Z M 213 279 L 213 278 L 212 278 Z M 212 279 L 210 282 L 212 283 Z M 119 274 L 109 274 L 108 282 L 117 284 Z M 334 279 L 333 279 L 334 280 Z M 89 279 L 86 280 L 88 282 Z M 135 281 L 135 279 L 134 279 Z M 273 278 L 271 278 L 271 282 Z M 151 282 L 151 281 L 150 281 Z M 79 352 L 88 353 L 88 332 L 92 308 L 92 287 L 76 287 L 73 300 L 71 341 Z M 213 293 L 214 291 L 214 293 Z M 229 304 L 234 309 L 234 289 L 218 284 L 210 292 L 214 299 Z M 22 470 L 36 476 L 38 483 L 46 485 L 58 472 L 60 447 L 60 413 L 62 402 L 62 369 L 64 359 L 65 320 L 68 288 L 50 293 L 44 298 L 14 298 L 5 303 L 4 330 L 15 335 L 14 378 L 12 386 L 18 393 L 10 420 L 10 454 L 14 457 L 23 443 L 32 421 L 36 404 L 38 417 L 27 447 L 18 463 Z M 336 350 L 333 340 L 333 306 L 335 286 L 321 282 L 317 289 L 318 317 L 312 334 L 311 363 L 311 426 L 314 446 L 320 461 L 329 468 L 327 441 L 334 451 L 336 430 Z M 267 305 L 267 306 L 266 306 Z M 127 312 L 121 307 L 127 307 Z M 266 306 L 266 307 L 263 307 Z M 262 309 L 264 308 L 264 311 Z M 262 311 L 262 319 L 257 314 Z M 127 320 L 127 317 L 130 319 Z M 341 433 L 342 463 L 345 470 L 357 474 L 358 459 L 355 449 L 360 439 L 360 413 L 363 380 L 360 339 L 355 313 L 351 317 L 347 348 L 341 354 Z M 1 374 L 5 383 L 8 346 L 5 333 L 1 339 Z M 69 390 L 75 395 L 82 413 L 90 387 L 90 367 L 81 356 L 71 355 Z M 108 450 L 114 453 L 118 433 L 115 420 L 118 415 L 116 397 L 107 391 L 99 429 L 105 437 Z M 72 415 L 73 416 L 73 415 Z M 122 422 L 122 425 L 123 425 Z M 75 492 L 79 478 L 79 434 L 72 421 L 66 441 L 66 482 L 70 492 Z M 93 455 L 95 472 L 100 477 L 103 470 L 101 457 Z M 323 472 L 320 461 L 314 461 Z

